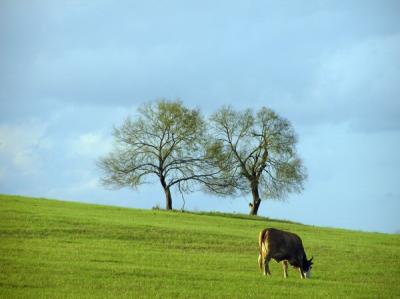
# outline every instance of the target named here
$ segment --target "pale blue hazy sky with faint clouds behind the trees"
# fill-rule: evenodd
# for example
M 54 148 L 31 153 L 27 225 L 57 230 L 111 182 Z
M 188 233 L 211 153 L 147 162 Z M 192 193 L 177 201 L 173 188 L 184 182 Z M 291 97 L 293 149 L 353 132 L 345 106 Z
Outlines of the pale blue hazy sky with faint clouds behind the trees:
M 396 0 L 0 1 L 4 194 L 165 207 L 157 182 L 100 184 L 113 127 L 159 98 L 205 117 L 266 106 L 292 123 L 308 179 L 260 215 L 399 233 L 399 97 Z M 250 200 L 195 192 L 185 209 Z

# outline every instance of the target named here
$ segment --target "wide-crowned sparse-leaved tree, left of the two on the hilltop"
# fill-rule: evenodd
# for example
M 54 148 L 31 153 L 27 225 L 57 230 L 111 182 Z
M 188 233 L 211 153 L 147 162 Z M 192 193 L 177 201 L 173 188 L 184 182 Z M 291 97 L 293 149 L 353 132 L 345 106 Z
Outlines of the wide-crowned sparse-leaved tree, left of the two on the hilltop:
M 214 167 L 207 149 L 206 124 L 196 109 L 180 101 L 159 100 L 138 109 L 137 119 L 126 119 L 114 129 L 115 148 L 99 160 L 104 185 L 136 188 L 158 178 L 172 209 L 171 188 L 193 191 L 203 183 L 218 193 L 212 177 L 221 172 Z

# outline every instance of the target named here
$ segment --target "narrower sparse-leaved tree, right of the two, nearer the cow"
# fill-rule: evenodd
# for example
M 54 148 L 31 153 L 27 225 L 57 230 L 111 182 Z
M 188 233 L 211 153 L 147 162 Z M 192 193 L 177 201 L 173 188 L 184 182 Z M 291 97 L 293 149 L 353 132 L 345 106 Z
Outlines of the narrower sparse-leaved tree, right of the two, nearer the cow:
M 288 120 L 265 107 L 255 115 L 249 109 L 224 107 L 211 116 L 211 122 L 214 148 L 225 157 L 220 163 L 235 182 L 235 192 L 252 194 L 251 215 L 257 215 L 261 198 L 284 199 L 290 192 L 302 191 L 306 172 Z

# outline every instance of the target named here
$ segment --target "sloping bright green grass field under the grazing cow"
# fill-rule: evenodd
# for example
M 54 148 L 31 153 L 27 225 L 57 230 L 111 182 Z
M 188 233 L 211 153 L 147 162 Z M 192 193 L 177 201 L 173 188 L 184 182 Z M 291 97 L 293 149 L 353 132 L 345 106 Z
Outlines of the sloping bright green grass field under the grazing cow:
M 265 227 L 302 237 L 312 279 L 261 274 Z M 400 298 L 400 236 L 0 196 L 0 298 L 177 297 Z

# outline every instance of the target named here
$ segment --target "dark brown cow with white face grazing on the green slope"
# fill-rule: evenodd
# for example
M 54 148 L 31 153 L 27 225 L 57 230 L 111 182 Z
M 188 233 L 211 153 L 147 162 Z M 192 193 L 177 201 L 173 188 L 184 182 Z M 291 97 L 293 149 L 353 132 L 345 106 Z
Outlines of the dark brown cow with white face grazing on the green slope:
M 294 233 L 275 228 L 263 229 L 258 238 L 258 264 L 264 275 L 271 275 L 268 263 L 271 259 L 283 263 L 283 276 L 288 277 L 288 264 L 300 271 L 301 278 L 311 278 L 312 259 L 307 260 L 303 242 Z

